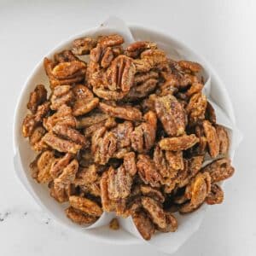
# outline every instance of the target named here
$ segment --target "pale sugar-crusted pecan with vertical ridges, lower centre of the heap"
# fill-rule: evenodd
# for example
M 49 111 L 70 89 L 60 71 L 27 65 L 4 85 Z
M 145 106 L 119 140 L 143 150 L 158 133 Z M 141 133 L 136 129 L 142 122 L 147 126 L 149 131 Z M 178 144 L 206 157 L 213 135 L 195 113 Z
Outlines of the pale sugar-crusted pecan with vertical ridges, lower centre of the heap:
M 119 166 L 117 170 L 110 167 L 108 170 L 108 197 L 110 200 L 124 199 L 131 192 L 131 174 L 125 170 L 124 166 Z

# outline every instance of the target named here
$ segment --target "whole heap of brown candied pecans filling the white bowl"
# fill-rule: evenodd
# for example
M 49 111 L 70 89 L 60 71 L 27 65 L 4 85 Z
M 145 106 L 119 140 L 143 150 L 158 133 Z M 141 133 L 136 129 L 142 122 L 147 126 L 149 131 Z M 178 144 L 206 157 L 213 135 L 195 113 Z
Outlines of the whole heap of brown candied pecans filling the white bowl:
M 173 212 L 221 203 L 218 182 L 234 168 L 201 65 L 173 61 L 154 43 L 123 43 L 117 34 L 79 38 L 45 58 L 50 95 L 42 84 L 32 91 L 22 133 L 38 152 L 32 177 L 69 202 L 67 218 L 131 216 L 149 240 L 177 230 Z

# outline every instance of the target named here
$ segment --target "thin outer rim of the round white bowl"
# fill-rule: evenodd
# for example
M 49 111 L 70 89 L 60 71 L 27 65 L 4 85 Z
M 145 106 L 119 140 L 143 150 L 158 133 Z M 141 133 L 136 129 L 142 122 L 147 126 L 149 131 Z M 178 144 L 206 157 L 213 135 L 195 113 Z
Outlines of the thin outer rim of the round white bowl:
M 200 57 L 201 60 L 204 61 L 207 64 L 207 67 L 209 68 L 209 71 L 211 72 L 211 76 L 214 77 L 214 79 L 216 79 L 216 83 L 221 86 L 221 90 L 224 93 L 225 100 L 226 100 L 226 102 L 225 102 L 226 103 L 226 108 L 224 109 L 224 112 L 228 114 L 232 123 L 236 124 L 234 108 L 232 106 L 230 96 L 228 94 L 228 91 L 227 91 L 226 87 L 224 86 L 223 81 L 219 78 L 218 73 L 216 73 L 216 71 L 212 67 L 212 65 L 200 53 L 195 52 L 194 49 L 191 49 L 187 44 L 184 44 L 183 40 L 181 40 L 180 38 L 177 38 L 176 36 L 173 36 L 172 33 L 170 33 L 170 32 L 166 32 L 166 31 L 164 32 L 164 31 L 161 31 L 161 30 L 156 29 L 154 27 L 151 28 L 151 27 L 148 27 L 148 26 L 135 25 L 135 24 L 132 24 L 132 23 L 131 24 L 129 23 L 128 27 L 131 29 L 131 33 L 133 31 L 136 31 L 136 30 L 142 30 L 142 31 L 147 32 L 147 33 L 154 33 L 154 35 L 160 35 L 160 36 L 164 36 L 166 38 L 170 38 L 170 39 L 172 39 L 173 42 L 175 42 L 177 44 L 180 44 L 184 49 L 188 49 L 190 52 L 192 52 L 193 54 Z M 82 32 L 75 33 L 72 36 L 68 37 L 67 39 L 61 40 L 61 43 L 56 44 L 56 46 L 54 48 L 49 49 L 47 54 L 44 55 L 44 56 L 52 55 L 55 51 L 57 51 L 61 47 L 63 47 L 64 44 L 70 43 L 75 38 L 84 37 L 87 34 L 96 32 L 96 29 L 98 29 L 98 26 L 92 27 L 88 30 L 83 30 Z M 32 71 L 26 77 L 26 80 L 23 83 L 23 86 L 20 90 L 20 94 L 17 98 L 17 102 L 16 102 L 16 106 L 15 106 L 15 114 L 14 114 L 14 119 L 13 119 L 13 148 L 14 148 L 15 155 L 17 154 L 17 151 L 19 150 L 18 149 L 18 145 L 19 145 L 18 132 L 20 132 L 20 129 L 19 129 L 20 128 L 20 119 L 18 119 L 18 113 L 19 113 L 19 108 L 21 107 L 21 105 L 23 105 L 23 102 L 21 101 L 21 99 L 24 98 L 24 96 L 26 94 L 26 89 L 27 89 L 28 85 L 30 84 L 30 80 L 32 79 L 33 74 L 36 73 L 38 71 L 38 69 L 42 66 L 43 61 L 44 61 L 44 58 L 39 60 L 37 62 L 37 64 L 35 65 L 35 67 L 32 68 Z M 55 218 L 53 213 L 50 212 L 49 209 L 47 207 L 45 207 L 44 204 L 41 203 L 41 201 L 38 200 L 38 196 L 37 196 L 36 192 L 30 187 L 29 184 L 26 184 L 26 176 L 24 174 L 23 168 L 21 168 L 21 169 L 22 169 L 22 173 L 19 174 L 18 172 L 15 171 L 15 176 L 19 178 L 20 183 L 22 183 L 23 186 L 28 191 L 28 193 L 30 195 L 32 195 L 32 197 L 35 199 L 35 201 L 37 202 L 39 207 L 41 207 L 44 210 L 44 212 L 46 212 L 51 218 L 55 219 L 56 223 L 61 224 L 62 227 L 66 228 L 66 229 L 67 228 L 72 229 L 70 226 L 67 226 L 66 224 L 62 223 L 60 219 Z M 198 226 L 198 228 L 196 230 L 198 230 L 199 227 L 200 227 L 200 225 Z M 143 241 L 141 241 L 140 239 L 138 239 L 135 236 L 131 236 L 131 234 L 129 234 L 130 235 L 129 237 L 131 237 L 130 239 L 113 240 L 113 239 L 108 239 L 108 237 L 97 236 L 93 232 L 90 232 L 90 230 L 87 230 L 86 232 L 84 232 L 83 229 L 72 229 L 72 230 L 82 233 L 84 236 L 88 237 L 91 240 L 102 241 L 102 242 L 108 243 L 108 244 L 115 244 L 115 245 L 128 245 L 129 244 L 129 245 L 131 245 L 131 244 L 142 244 L 143 243 Z M 195 233 L 195 231 L 193 233 Z

